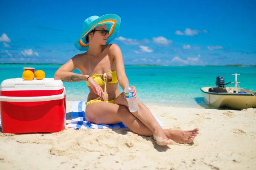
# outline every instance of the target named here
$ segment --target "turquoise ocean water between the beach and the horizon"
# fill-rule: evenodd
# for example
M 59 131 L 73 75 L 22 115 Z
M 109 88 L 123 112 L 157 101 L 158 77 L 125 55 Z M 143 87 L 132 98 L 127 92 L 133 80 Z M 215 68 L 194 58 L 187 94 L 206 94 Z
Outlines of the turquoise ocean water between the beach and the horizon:
M 23 67 L 44 70 L 46 77 L 54 77 L 61 65 L 0 65 L 0 82 L 4 79 L 22 77 Z M 125 65 L 130 85 L 137 88 L 138 98 L 146 105 L 207 108 L 201 96 L 201 87 L 215 86 L 217 76 L 225 82 L 238 81 L 241 88 L 256 91 L 256 67 L 226 66 L 133 66 Z M 78 70 L 75 73 L 80 73 Z M 88 88 L 85 82 L 64 82 L 67 100 L 86 101 Z M 227 87 L 233 87 L 229 84 Z M 122 89 L 120 88 L 122 92 Z

